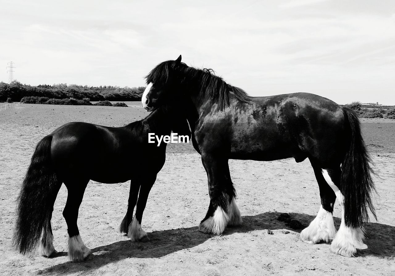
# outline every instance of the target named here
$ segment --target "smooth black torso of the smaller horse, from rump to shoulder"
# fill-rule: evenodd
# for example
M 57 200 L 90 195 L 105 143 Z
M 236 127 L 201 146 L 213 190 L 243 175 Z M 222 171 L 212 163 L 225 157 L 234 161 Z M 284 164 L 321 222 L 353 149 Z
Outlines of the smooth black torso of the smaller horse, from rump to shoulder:
M 61 178 L 128 181 L 147 165 L 147 157 L 155 155 L 156 162 L 164 161 L 166 150 L 147 143 L 141 121 L 124 127 L 72 122 L 51 135 L 51 159 Z

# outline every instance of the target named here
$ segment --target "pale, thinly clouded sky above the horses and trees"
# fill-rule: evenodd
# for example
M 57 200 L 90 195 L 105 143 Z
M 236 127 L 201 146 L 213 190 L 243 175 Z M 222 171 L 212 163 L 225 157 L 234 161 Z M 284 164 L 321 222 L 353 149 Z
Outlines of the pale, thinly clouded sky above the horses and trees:
M 145 86 L 181 54 L 252 96 L 395 105 L 394 0 L 1 0 L 0 26 L 4 82 L 12 60 L 30 85 Z

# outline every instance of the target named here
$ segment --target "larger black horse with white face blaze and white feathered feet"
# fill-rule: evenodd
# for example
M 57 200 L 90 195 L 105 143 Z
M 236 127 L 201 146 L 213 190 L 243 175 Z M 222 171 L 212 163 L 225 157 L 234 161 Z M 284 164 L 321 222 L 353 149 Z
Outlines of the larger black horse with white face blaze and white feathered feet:
M 308 93 L 250 97 L 215 76 L 177 60 L 158 64 L 146 77 L 142 98 L 146 110 L 171 102 L 187 107 L 192 143 L 207 172 L 210 205 L 199 225 L 203 233 L 221 234 L 227 225 L 242 222 L 235 203 L 229 159 L 270 161 L 308 158 L 320 188 L 321 208 L 301 232 L 317 243 L 333 240 L 331 251 L 352 256 L 363 244 L 369 208 L 374 217 L 370 159 L 355 113 L 335 102 Z M 336 233 L 333 205 L 342 206 Z

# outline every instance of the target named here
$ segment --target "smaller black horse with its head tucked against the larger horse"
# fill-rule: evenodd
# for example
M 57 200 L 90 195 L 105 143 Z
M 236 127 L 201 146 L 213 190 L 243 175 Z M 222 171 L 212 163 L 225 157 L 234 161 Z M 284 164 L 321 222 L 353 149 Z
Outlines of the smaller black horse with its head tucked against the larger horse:
M 156 175 L 165 163 L 167 145 L 165 142 L 158 145 L 156 140 L 149 143 L 149 133 L 170 135 L 171 130 L 190 135 L 186 119 L 175 113 L 175 108 L 164 106 L 124 127 L 73 122 L 44 137 L 32 156 L 18 198 L 14 233 L 17 250 L 23 254 L 32 251 L 43 232 L 40 253 L 47 257 L 56 255 L 51 217 L 56 195 L 64 183 L 68 191 L 63 216 L 70 238 L 69 258 L 84 261 L 93 257 L 77 227 L 79 206 L 89 180 L 102 183 L 132 180 L 120 231 L 127 233 L 133 242 L 147 241 L 141 218 Z

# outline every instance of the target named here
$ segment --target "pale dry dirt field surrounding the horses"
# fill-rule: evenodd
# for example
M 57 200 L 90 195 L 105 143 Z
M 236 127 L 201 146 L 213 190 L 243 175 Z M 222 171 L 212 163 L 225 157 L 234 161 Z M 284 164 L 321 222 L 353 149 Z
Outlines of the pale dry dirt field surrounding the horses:
M 207 176 L 192 144 L 168 146 L 166 164 L 143 216 L 149 242 L 131 243 L 118 231 L 129 183 L 91 181 L 80 208 L 79 229 L 94 259 L 68 261 L 64 186 L 52 218 L 59 255 L 48 259 L 36 252 L 23 256 L 12 251 L 15 198 L 37 142 L 70 121 L 122 126 L 146 115 L 135 107 L 30 104 L 0 113 L 0 274 L 395 275 L 395 120 L 363 120 L 363 135 L 377 173 L 378 221 L 366 226 L 369 248 L 354 258 L 332 254 L 329 244 L 304 243 L 299 240 L 300 229 L 277 220 L 281 213 L 289 213 L 308 225 L 318 212 L 318 185 L 309 161 L 230 161 L 243 226 L 228 228 L 221 236 L 199 233 L 209 196 Z M 339 204 L 334 216 L 338 227 Z

